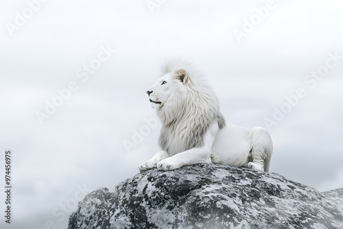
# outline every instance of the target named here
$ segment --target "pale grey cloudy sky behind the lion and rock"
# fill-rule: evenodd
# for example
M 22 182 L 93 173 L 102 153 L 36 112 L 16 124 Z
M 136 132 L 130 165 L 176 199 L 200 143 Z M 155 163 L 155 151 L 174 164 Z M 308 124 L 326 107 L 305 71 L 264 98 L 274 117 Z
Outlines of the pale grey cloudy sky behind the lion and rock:
M 0 3 L 1 228 L 67 228 L 86 193 L 138 173 L 160 127 L 145 89 L 169 58 L 206 75 L 226 121 L 270 130 L 272 172 L 343 187 L 342 1 Z

